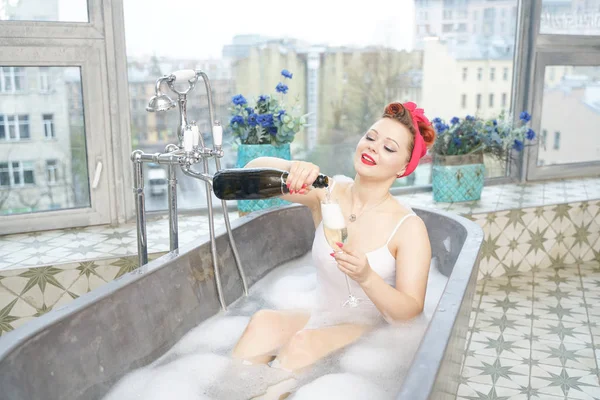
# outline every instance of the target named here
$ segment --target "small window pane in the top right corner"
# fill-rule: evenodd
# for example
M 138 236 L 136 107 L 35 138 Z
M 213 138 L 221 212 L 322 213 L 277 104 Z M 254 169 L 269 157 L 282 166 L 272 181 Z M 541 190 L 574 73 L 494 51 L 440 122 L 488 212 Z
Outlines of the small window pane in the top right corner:
M 542 0 L 540 33 L 600 35 L 598 0 Z

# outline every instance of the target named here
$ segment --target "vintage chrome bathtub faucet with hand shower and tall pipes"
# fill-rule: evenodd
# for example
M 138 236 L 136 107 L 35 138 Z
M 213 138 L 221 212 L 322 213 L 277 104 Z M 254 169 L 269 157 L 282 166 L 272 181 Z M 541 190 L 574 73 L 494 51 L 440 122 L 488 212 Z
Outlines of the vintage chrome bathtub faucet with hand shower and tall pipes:
M 194 90 L 198 79 L 202 78 L 206 88 L 208 99 L 208 112 L 210 117 L 211 136 L 213 148 L 206 147 L 204 138 L 195 122 L 189 122 L 187 116 L 188 94 Z M 180 91 L 175 88 L 176 83 L 187 82 L 187 89 Z M 161 87 L 166 84 L 171 91 L 177 94 L 177 102 L 173 101 L 167 94 L 163 93 Z M 131 154 L 131 161 L 134 167 L 134 194 L 136 197 L 135 209 L 137 219 L 137 239 L 138 239 L 138 259 L 140 267 L 148 263 L 148 243 L 146 235 L 146 210 L 144 198 L 144 176 L 142 164 L 144 162 L 153 162 L 156 164 L 167 165 L 168 170 L 168 203 L 169 203 L 169 248 L 171 252 L 177 252 L 179 248 L 179 234 L 177 223 L 177 176 L 176 167 L 181 167 L 184 174 L 196 179 L 200 179 L 206 184 L 206 204 L 208 207 L 208 227 L 210 234 L 210 249 L 217 284 L 217 294 L 223 310 L 227 309 L 223 295 L 221 283 L 221 273 L 217 257 L 217 245 L 215 239 L 215 224 L 212 205 L 212 176 L 208 173 L 208 159 L 214 158 L 217 171 L 221 169 L 220 159 L 223 157 L 223 127 L 220 122 L 215 120 L 212 101 L 212 91 L 208 76 L 200 70 L 180 70 L 170 75 L 164 75 L 157 79 L 155 95 L 150 99 L 146 110 L 149 112 L 168 111 L 175 106 L 179 106 L 179 126 L 177 127 L 177 144 L 168 144 L 164 153 L 146 154 L 142 150 L 135 150 Z M 203 172 L 196 172 L 192 169 L 195 164 L 202 164 Z M 225 228 L 229 236 L 229 243 L 233 252 L 236 266 L 242 279 L 244 294 L 248 295 L 248 284 L 246 275 L 240 262 L 240 256 L 233 239 L 231 223 L 227 212 L 227 203 L 221 201 L 223 215 L 225 219 Z

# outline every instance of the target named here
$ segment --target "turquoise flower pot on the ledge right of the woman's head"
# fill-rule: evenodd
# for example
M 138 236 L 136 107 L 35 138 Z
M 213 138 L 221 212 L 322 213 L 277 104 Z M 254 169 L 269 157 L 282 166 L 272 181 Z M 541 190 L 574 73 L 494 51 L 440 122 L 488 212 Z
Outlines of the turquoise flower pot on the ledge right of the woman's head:
M 485 180 L 483 155 L 435 156 L 431 179 L 437 202 L 479 200 Z

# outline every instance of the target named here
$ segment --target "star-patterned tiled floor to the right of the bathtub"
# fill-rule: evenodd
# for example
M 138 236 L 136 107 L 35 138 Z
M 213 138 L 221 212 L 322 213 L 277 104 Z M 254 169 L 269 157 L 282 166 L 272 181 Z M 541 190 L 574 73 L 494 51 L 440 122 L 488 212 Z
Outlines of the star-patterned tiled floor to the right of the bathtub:
M 600 263 L 478 283 L 458 399 L 600 399 Z

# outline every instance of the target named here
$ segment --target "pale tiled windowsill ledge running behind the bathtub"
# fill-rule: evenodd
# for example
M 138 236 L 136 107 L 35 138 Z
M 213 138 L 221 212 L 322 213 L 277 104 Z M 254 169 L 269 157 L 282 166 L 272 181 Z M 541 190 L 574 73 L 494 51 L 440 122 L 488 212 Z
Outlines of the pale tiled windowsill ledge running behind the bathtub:
M 423 207 L 460 215 L 484 214 L 517 208 L 577 203 L 600 199 L 600 177 L 555 180 L 530 184 L 499 184 L 484 188 L 481 199 L 468 203 L 436 203 L 431 191 L 395 194 L 412 207 Z M 235 202 L 232 202 L 235 204 Z M 230 209 L 230 220 L 239 218 Z M 215 229 L 224 228 L 223 216 L 216 214 Z M 137 254 L 136 223 L 118 227 L 91 226 L 0 236 L 0 271 L 44 265 L 76 263 L 84 260 L 122 258 Z M 179 243 L 185 245 L 208 232 L 208 217 L 203 210 L 180 210 Z M 148 251 L 169 250 L 169 220 L 164 213 L 148 215 Z

